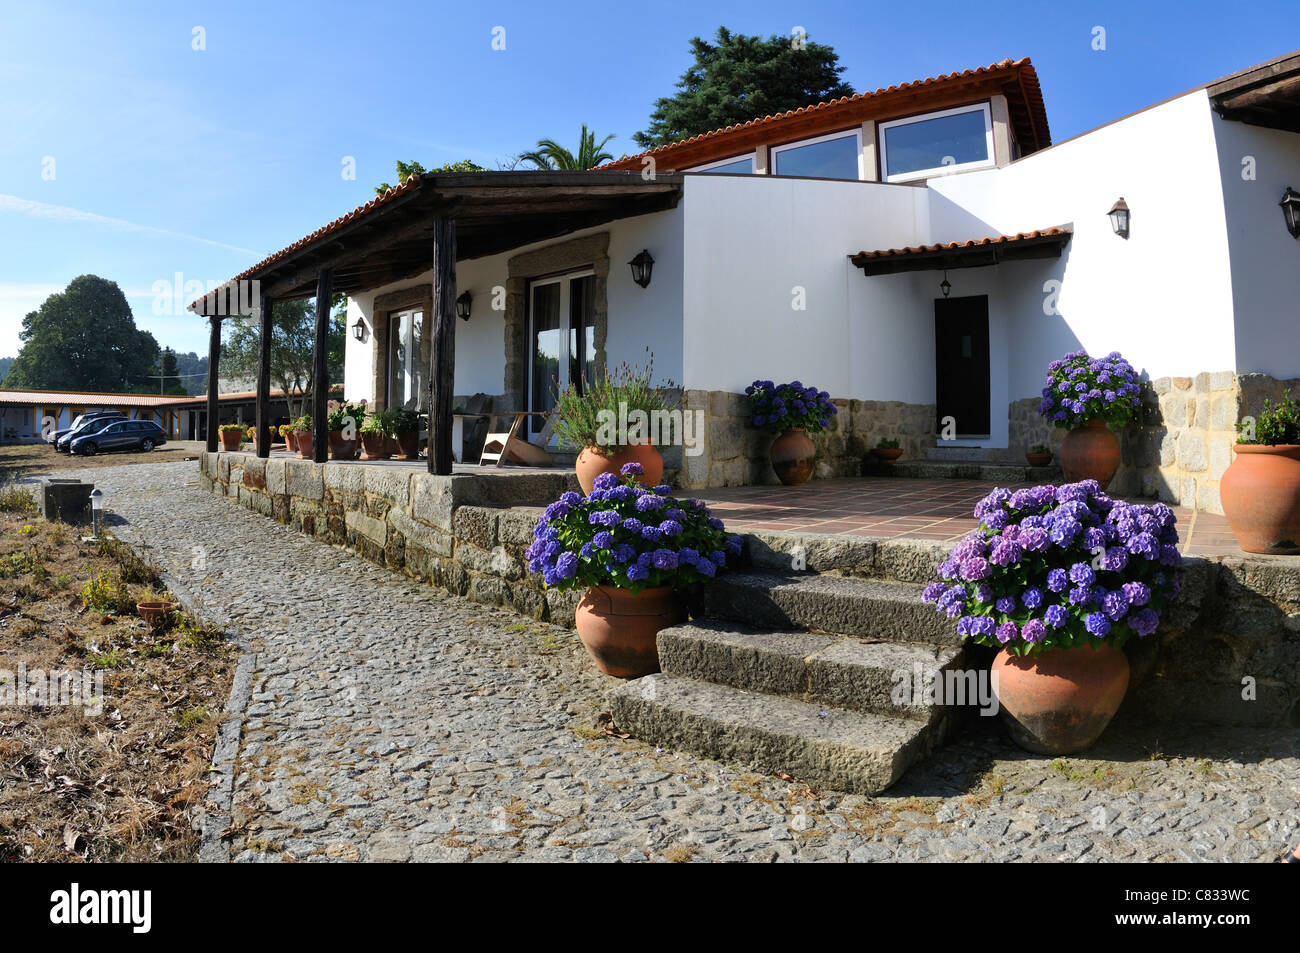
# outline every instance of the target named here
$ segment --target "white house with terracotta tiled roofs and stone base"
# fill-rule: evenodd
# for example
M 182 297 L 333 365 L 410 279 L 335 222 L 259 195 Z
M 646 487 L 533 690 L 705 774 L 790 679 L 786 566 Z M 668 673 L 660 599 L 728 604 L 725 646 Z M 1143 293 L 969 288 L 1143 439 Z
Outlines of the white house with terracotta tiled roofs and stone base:
M 592 173 L 408 179 L 237 280 L 303 296 L 330 270 L 348 399 L 425 408 L 429 233 L 452 218 L 455 403 L 545 411 L 650 348 L 706 423 L 701 452 L 670 458 L 688 486 L 774 480 L 744 425 L 755 378 L 829 391 L 820 473 L 855 475 L 880 437 L 1018 460 L 1052 438 L 1048 361 L 1118 350 L 1152 381 L 1119 489 L 1217 511 L 1235 423 L 1300 377 L 1294 183 L 1300 55 L 1060 143 L 1034 66 L 1008 60 Z

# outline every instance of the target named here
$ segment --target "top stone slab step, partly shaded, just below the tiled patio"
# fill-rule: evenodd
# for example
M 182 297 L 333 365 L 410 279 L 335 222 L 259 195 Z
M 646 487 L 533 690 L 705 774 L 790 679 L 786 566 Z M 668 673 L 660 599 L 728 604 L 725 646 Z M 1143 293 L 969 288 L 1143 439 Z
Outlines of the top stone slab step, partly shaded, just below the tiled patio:
M 923 602 L 916 582 L 800 572 L 728 572 L 694 615 L 755 629 L 812 629 L 888 642 L 957 645 L 957 627 Z

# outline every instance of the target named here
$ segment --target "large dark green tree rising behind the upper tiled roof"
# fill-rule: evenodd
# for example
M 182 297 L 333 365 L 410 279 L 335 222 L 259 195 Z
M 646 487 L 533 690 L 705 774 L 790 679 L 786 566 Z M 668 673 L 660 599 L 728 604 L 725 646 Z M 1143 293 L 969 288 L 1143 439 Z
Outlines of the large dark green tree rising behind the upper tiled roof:
M 720 26 L 714 43 L 692 38 L 690 52 L 696 61 L 677 92 L 658 100 L 649 127 L 632 137 L 641 148 L 853 95 L 835 49 L 806 36 L 763 39 Z

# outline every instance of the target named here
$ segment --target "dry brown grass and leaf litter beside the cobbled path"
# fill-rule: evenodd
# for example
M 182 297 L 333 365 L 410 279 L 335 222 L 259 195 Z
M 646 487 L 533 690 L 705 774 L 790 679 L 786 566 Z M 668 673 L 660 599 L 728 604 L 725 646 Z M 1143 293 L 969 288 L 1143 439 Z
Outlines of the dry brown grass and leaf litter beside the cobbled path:
M 165 593 L 120 543 L 0 512 L 0 668 L 104 683 L 99 715 L 0 706 L 0 862 L 192 858 L 233 646 L 182 615 L 139 619 Z

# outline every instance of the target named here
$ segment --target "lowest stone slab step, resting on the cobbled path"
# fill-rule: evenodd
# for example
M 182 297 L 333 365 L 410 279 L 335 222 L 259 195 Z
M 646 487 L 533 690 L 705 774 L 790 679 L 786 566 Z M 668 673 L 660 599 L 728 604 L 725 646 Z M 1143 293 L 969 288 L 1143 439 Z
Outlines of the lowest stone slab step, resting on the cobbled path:
M 729 685 L 647 675 L 610 694 L 614 723 L 666 749 L 857 794 L 876 794 L 930 751 L 906 718 L 827 709 Z

